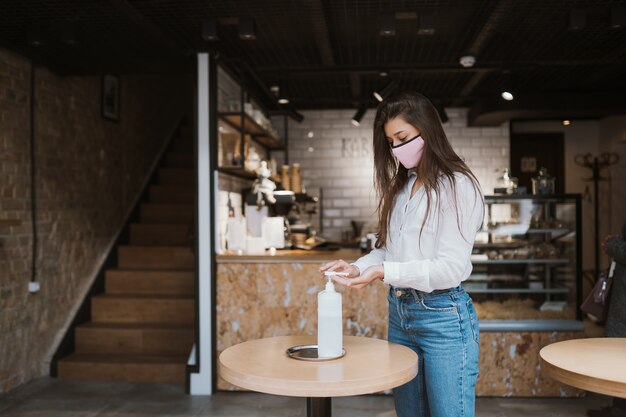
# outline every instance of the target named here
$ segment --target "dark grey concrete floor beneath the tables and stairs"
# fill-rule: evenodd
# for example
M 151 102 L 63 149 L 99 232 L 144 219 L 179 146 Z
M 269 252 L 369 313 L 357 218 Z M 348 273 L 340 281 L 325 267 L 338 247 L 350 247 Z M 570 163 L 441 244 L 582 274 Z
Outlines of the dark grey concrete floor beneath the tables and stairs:
M 576 417 L 608 405 L 595 394 L 575 399 L 478 398 L 480 417 Z M 395 417 L 391 396 L 333 399 L 333 416 Z M 240 392 L 190 397 L 173 384 L 85 382 L 41 378 L 0 394 L 7 417 L 296 417 L 306 416 L 303 398 Z

